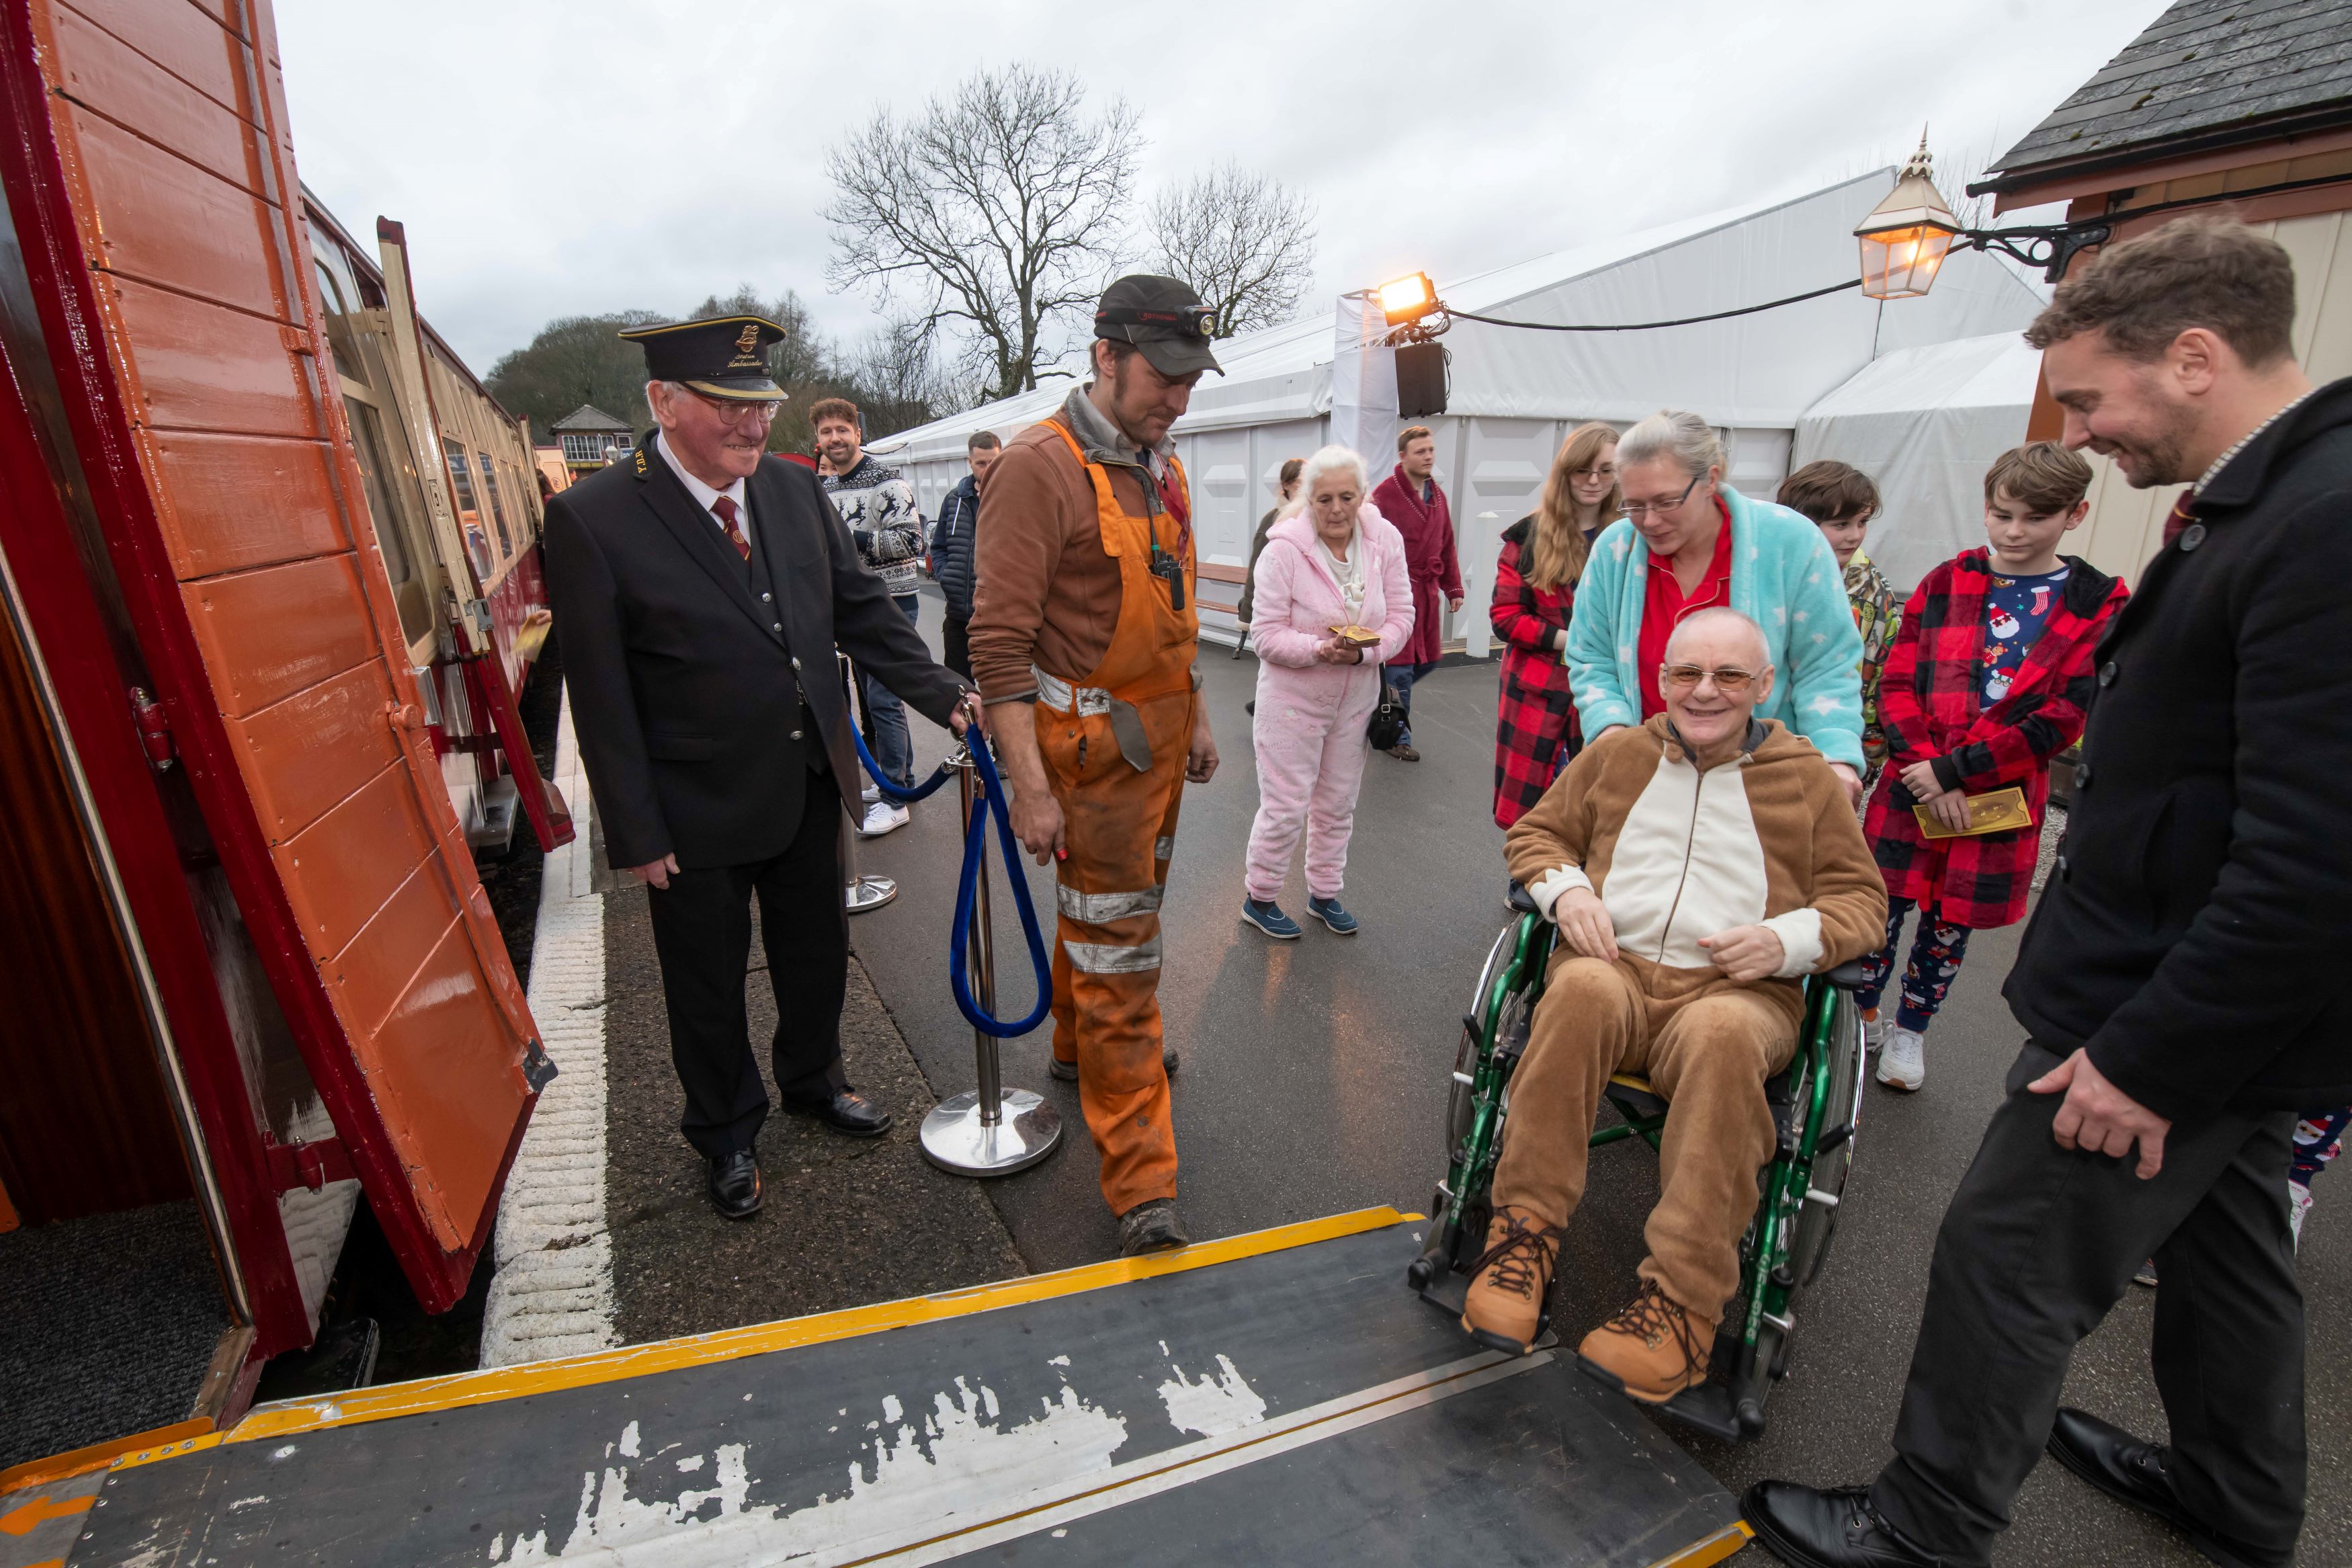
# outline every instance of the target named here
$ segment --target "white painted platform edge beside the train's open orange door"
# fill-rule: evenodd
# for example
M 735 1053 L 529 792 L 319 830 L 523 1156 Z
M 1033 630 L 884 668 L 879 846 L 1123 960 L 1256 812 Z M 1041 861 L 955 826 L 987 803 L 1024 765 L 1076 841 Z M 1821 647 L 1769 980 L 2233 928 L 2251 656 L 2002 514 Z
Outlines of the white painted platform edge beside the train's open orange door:
M 619 1342 L 604 1215 L 604 896 L 593 882 L 595 802 L 564 691 L 555 788 L 572 842 L 546 858 L 532 938 L 532 1016 L 555 1058 L 499 1199 L 482 1366 L 576 1356 Z

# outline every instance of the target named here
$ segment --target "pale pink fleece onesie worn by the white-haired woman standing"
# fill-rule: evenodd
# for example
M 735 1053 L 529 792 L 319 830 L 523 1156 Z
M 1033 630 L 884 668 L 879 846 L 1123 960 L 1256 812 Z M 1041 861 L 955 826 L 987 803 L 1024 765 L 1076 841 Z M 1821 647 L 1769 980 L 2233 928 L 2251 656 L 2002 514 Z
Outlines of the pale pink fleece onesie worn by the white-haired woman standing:
M 1364 724 L 1381 701 L 1381 663 L 1414 635 L 1414 588 L 1404 576 L 1404 538 L 1367 501 L 1352 550 L 1364 550 L 1362 625 L 1381 632 L 1359 665 L 1315 663 L 1315 644 L 1350 621 L 1338 581 L 1315 543 L 1305 512 L 1282 517 L 1265 536 L 1254 574 L 1249 642 L 1258 649 L 1258 820 L 1249 827 L 1251 898 L 1270 900 L 1291 870 L 1298 830 L 1308 835 L 1308 893 L 1336 898 L 1355 832 L 1355 792 L 1364 783 Z

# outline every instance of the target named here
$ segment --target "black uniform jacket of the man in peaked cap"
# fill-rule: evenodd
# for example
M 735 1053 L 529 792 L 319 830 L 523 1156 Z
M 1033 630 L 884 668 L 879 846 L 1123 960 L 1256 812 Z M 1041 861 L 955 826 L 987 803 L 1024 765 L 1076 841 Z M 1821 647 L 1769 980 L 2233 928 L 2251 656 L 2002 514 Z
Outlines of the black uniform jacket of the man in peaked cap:
M 755 571 L 652 435 L 548 501 L 572 729 L 616 867 L 783 853 L 818 762 L 830 783 L 816 788 L 861 809 L 835 644 L 938 724 L 964 686 L 931 663 L 811 470 L 762 458 L 746 496 Z

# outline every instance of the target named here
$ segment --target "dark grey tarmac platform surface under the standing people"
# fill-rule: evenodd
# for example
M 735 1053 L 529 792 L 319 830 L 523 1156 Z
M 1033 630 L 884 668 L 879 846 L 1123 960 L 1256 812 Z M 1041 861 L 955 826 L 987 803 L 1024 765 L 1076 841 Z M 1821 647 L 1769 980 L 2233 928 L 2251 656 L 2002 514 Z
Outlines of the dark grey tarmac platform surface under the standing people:
M 941 604 L 924 592 L 922 632 L 938 646 Z M 1256 661 L 1204 646 L 1207 698 L 1223 766 L 1185 790 L 1164 910 L 1162 1009 L 1181 1048 L 1176 1138 L 1181 1213 L 1195 1239 L 1324 1213 L 1395 1204 L 1428 1211 L 1442 1175 L 1442 1110 L 1458 1020 L 1505 922 L 1501 839 L 1491 818 L 1496 670 L 1444 668 L 1414 691 L 1423 762 L 1374 757 L 1357 806 L 1345 903 L 1362 933 L 1305 922 L 1296 943 L 1268 943 L 1237 919 L 1242 846 L 1258 804 L 1249 717 Z M 915 717 L 917 766 L 948 733 Z M 844 1053 L 851 1077 L 898 1112 L 880 1143 L 851 1143 L 776 1117 L 762 1135 L 767 1211 L 717 1220 L 701 1166 L 675 1131 L 677 1086 L 642 893 L 609 900 L 612 1178 L 621 1328 L 628 1340 L 887 1300 L 1117 1251 L 1096 1187 L 1075 1086 L 1047 1077 L 1040 1030 L 1002 1048 L 1004 1081 L 1063 1110 L 1065 1147 L 993 1182 L 929 1168 L 913 1126 L 929 1100 L 974 1084 L 974 1041 L 948 994 L 946 952 L 960 858 L 953 792 L 915 820 L 858 844 L 861 865 L 898 879 L 898 900 L 851 922 Z M 990 860 L 995 853 L 990 851 Z M 997 889 L 1000 1013 L 1025 1013 L 1035 990 L 1002 870 Z M 1028 867 L 1051 940 L 1054 884 Z M 1284 905 L 1303 917 L 1294 867 Z M 1875 1474 L 1912 1356 L 1929 1253 L 2020 1030 L 1999 999 L 2018 931 L 1976 938 L 1929 1037 L 1917 1095 L 1870 1086 L 1837 1244 L 1809 1293 L 1790 1375 L 1769 1432 L 1719 1446 L 1668 1425 L 1733 1493 L 1762 1476 L 1846 1483 Z M 757 945 L 753 947 L 757 964 Z M 750 973 L 753 1037 L 764 1039 L 767 976 Z M 764 1051 L 762 1051 L 764 1056 Z M 2284 1180 L 2284 1173 L 2281 1173 Z M 2343 1192 L 2333 1182 L 2347 1182 Z M 1569 1227 L 1555 1328 L 1573 1342 L 1632 1293 L 1642 1220 L 1656 1201 L 1656 1159 L 1639 1145 L 1595 1152 L 1590 1194 Z M 2310 1305 L 2310 1521 L 2303 1563 L 2352 1563 L 2352 1258 L 2343 1237 L 2352 1175 L 2326 1178 L 2305 1229 Z M 1397 1288 L 1404 1288 L 1399 1279 Z M 2067 1401 L 2147 1436 L 2164 1415 L 2147 1373 L 2154 1298 L 2133 1291 L 2084 1342 Z M 1764 1552 L 1750 1549 L 1740 1561 Z M 2002 1542 L 2004 1566 L 2199 1563 L 2164 1526 L 2056 1465 L 2042 1465 Z

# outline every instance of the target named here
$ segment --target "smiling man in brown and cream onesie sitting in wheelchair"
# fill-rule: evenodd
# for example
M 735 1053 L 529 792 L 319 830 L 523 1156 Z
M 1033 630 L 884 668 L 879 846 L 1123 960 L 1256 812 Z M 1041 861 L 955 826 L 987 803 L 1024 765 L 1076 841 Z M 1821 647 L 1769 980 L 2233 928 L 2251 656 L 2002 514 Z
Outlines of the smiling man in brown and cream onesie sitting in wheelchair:
M 1510 875 L 1562 945 L 1510 1079 L 1494 1220 L 1463 1328 L 1526 1349 L 1585 1194 L 1585 1138 L 1611 1074 L 1668 1100 L 1663 1194 L 1639 1293 L 1581 1354 L 1649 1403 L 1708 1375 L 1738 1244 L 1773 1154 L 1764 1084 L 1797 1048 L 1802 976 L 1886 936 L 1886 889 L 1844 780 L 1755 708 L 1762 630 L 1703 609 L 1665 644 L 1665 712 L 1590 743 L 1505 839 Z

